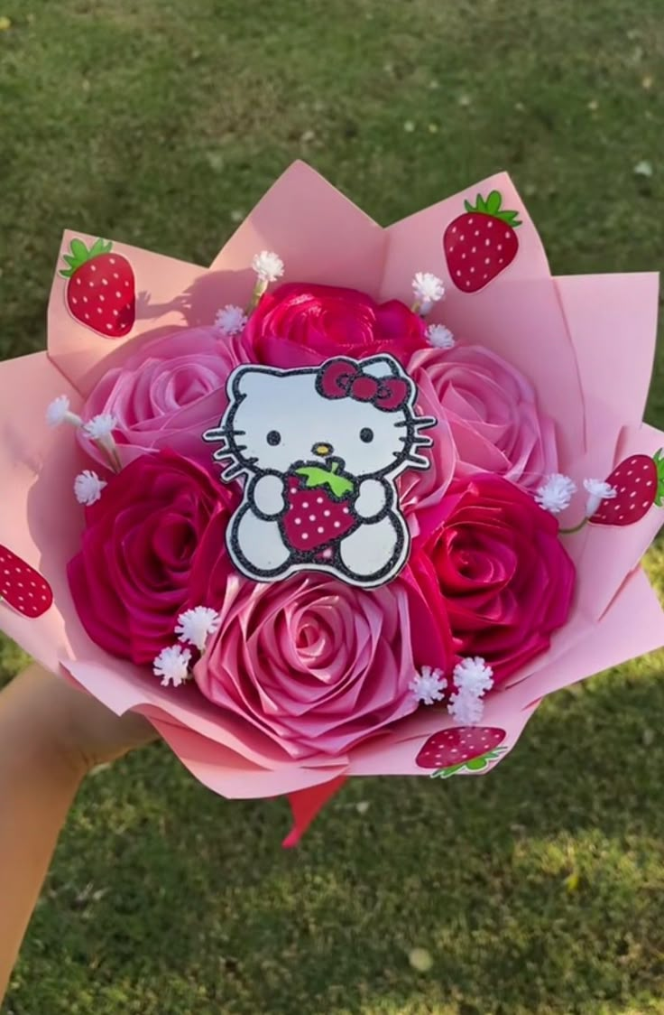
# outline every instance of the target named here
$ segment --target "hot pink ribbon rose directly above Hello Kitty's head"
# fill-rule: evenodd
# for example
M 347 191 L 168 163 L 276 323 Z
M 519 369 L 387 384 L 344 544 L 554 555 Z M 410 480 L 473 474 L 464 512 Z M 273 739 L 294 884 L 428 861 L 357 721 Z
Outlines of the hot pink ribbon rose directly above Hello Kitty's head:
M 244 335 L 257 362 L 286 368 L 379 352 L 404 362 L 427 344 L 422 319 L 400 300 L 377 303 L 357 289 L 304 282 L 267 293 Z

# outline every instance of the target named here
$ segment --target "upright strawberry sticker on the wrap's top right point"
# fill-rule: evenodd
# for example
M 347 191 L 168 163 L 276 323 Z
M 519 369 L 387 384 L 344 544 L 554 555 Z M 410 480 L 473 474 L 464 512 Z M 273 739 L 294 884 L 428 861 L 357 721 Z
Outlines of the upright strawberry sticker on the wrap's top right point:
M 443 251 L 450 278 L 461 292 L 477 292 L 512 263 L 519 249 L 517 211 L 501 208 L 503 198 L 492 191 L 487 200 L 464 201 L 465 211 L 449 223 Z

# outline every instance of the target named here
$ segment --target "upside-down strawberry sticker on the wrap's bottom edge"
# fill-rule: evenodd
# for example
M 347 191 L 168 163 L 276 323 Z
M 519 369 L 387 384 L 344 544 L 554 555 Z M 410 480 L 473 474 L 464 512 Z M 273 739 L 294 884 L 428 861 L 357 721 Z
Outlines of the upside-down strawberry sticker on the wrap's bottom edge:
M 457 726 L 432 734 L 415 759 L 421 768 L 436 768 L 432 779 L 462 771 L 482 771 L 505 750 L 507 734 L 496 726 Z

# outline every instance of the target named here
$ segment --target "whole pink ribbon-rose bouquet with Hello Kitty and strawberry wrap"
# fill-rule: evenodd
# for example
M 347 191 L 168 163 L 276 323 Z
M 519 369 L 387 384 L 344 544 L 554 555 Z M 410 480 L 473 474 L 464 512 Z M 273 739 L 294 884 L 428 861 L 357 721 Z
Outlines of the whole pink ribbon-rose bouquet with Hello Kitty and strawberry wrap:
M 552 278 L 508 177 L 383 229 L 296 163 L 208 269 L 65 233 L 2 364 L 0 622 L 294 844 L 491 770 L 664 644 L 652 274 Z

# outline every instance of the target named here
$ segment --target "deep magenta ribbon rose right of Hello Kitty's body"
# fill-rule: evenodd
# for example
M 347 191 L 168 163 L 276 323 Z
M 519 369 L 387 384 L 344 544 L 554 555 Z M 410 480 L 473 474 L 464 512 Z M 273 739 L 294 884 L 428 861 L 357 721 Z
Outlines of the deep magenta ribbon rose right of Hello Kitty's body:
M 446 601 L 456 651 L 484 657 L 499 684 L 546 652 L 567 621 L 575 568 L 558 522 L 513 483 L 477 475 L 454 483 L 426 524 L 418 549 Z

